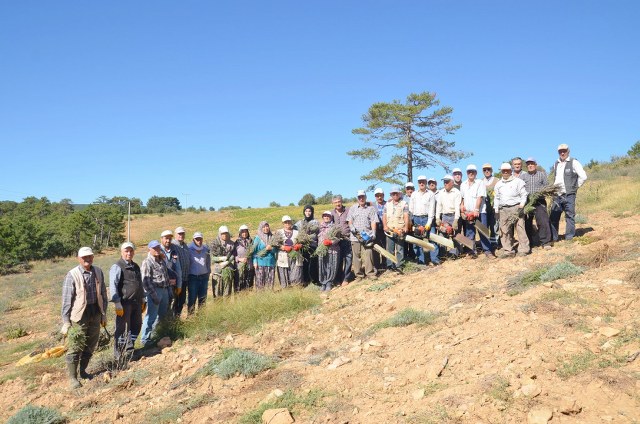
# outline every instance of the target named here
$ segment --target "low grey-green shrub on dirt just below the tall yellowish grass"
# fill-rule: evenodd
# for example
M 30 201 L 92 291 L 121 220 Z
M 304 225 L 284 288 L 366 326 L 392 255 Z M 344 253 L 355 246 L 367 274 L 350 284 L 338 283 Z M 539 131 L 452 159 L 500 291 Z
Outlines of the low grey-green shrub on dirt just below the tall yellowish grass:
M 253 377 L 274 366 L 275 361 L 268 356 L 250 350 L 224 349 L 202 368 L 202 373 L 227 380 L 238 374 Z

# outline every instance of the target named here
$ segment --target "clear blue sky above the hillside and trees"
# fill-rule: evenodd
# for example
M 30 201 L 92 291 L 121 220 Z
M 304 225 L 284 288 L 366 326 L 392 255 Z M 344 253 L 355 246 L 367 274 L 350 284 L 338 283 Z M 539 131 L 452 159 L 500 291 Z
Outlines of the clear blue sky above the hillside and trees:
M 4 1 L 0 199 L 351 197 L 373 167 L 351 130 L 421 91 L 461 167 L 608 160 L 640 139 L 638 22 L 631 0 Z

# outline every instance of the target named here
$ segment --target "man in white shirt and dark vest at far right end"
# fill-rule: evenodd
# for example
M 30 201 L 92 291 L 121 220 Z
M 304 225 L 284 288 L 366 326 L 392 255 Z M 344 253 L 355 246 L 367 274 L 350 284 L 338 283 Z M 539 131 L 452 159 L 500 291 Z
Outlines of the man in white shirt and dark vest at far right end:
M 554 183 L 560 186 L 560 194 L 553 198 L 551 204 L 551 234 L 553 241 L 558 241 L 560 216 L 564 212 L 566 228 L 564 239 L 572 240 L 576 234 L 576 194 L 587 181 L 587 173 L 576 159 L 569 157 L 569 145 L 558 146 L 558 160 L 553 164 Z

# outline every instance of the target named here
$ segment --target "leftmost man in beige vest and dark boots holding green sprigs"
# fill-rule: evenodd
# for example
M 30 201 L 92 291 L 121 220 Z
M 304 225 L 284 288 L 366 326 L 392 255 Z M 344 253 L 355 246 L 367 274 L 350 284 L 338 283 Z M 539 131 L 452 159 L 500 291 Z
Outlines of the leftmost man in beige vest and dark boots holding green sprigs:
M 74 343 L 66 355 L 69 386 L 77 389 L 78 365 L 80 377 L 91 379 L 87 366 L 100 338 L 100 326 L 107 325 L 107 287 L 102 270 L 93 266 L 93 251 L 82 247 L 78 251 L 77 267 L 72 268 L 62 284 L 62 328 L 66 336 L 72 325 L 84 334 L 83 346 Z

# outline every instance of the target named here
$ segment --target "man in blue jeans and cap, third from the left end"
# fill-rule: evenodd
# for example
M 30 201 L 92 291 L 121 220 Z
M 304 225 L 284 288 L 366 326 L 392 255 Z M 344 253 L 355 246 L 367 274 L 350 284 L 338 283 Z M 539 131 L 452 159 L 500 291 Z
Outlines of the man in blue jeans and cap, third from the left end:
M 162 245 L 158 240 L 151 240 L 147 247 L 149 253 L 140 266 L 142 288 L 146 299 L 146 314 L 142 321 L 142 337 L 140 338 L 142 346 L 149 343 L 151 333 L 158 322 L 164 320 L 169 314 L 169 292 L 172 290 Z

